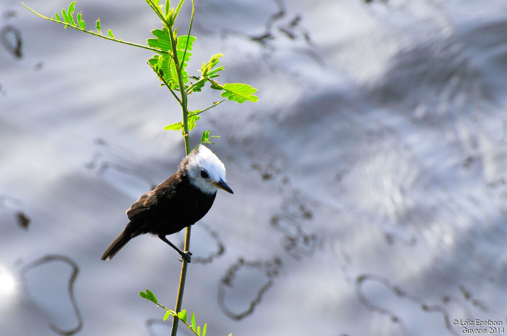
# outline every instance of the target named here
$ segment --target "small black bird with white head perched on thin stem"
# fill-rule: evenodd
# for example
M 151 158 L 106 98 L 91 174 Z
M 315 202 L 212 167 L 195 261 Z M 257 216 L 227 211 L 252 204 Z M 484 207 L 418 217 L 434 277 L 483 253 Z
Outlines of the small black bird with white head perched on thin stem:
M 100 260 L 110 261 L 130 239 L 149 233 L 169 244 L 182 260 L 190 263 L 190 251 L 180 250 L 166 236 L 203 218 L 219 189 L 234 193 L 226 183 L 224 163 L 201 144 L 179 163 L 176 173 L 130 206 L 126 212 L 128 224 Z

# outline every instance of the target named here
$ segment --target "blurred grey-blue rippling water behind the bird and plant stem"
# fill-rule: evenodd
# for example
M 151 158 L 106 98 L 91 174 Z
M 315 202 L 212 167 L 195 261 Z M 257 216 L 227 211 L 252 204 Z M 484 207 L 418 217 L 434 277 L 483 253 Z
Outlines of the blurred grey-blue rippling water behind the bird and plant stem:
M 27 5 L 51 16 L 68 3 Z M 189 69 L 223 53 L 221 81 L 260 97 L 207 111 L 191 134 L 222 136 L 211 149 L 234 190 L 192 230 L 183 307 L 197 323 L 237 336 L 505 327 L 507 2 L 196 5 Z M 99 261 L 184 156 L 162 129 L 180 112 L 152 53 L 17 1 L 0 11 L 0 333 L 168 334 L 138 292 L 173 307 L 176 253 L 141 236 Z M 79 11 L 137 43 L 161 26 L 142 1 Z M 190 108 L 218 100 L 210 91 Z

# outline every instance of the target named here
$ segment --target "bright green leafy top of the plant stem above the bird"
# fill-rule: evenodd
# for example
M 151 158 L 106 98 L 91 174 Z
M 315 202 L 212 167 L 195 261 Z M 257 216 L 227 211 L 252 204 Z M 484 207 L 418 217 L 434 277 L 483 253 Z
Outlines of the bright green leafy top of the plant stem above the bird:
M 162 28 L 152 30 L 152 34 L 155 38 L 149 38 L 147 40 L 147 46 L 123 41 L 122 39 L 116 38 L 111 29 L 107 29 L 107 36 L 101 34 L 101 22 L 100 18 L 95 21 L 95 29 L 86 30 L 86 22 L 82 17 L 82 13 L 79 12 L 74 19 L 76 2 L 71 2 L 67 9 L 62 9 L 61 17 L 55 12 L 54 17 L 45 17 L 29 7 L 23 4 L 29 11 L 49 21 L 58 22 L 64 25 L 64 28 L 72 27 L 83 32 L 96 35 L 105 39 L 110 39 L 119 43 L 140 47 L 156 52 L 152 58 L 148 60 L 148 64 L 151 66 L 153 71 L 158 75 L 159 79 L 163 82 L 161 86 L 166 86 L 174 96 L 174 98 L 184 108 L 184 120 L 182 122 L 176 122 L 167 125 L 165 130 L 182 131 L 184 136 L 188 131 L 192 130 L 196 121 L 199 120 L 199 114 L 209 110 L 212 107 L 222 103 L 224 100 L 236 101 L 238 103 L 244 103 L 246 101 L 256 102 L 258 97 L 253 95 L 257 92 L 257 89 L 243 83 L 224 83 L 220 84 L 216 81 L 216 77 L 219 76 L 219 72 L 224 70 L 223 66 L 218 66 L 222 54 L 215 54 L 211 56 L 208 62 L 203 62 L 200 69 L 200 76 L 190 76 L 186 70 L 190 57 L 192 56 L 193 44 L 196 40 L 195 36 L 190 35 L 192 28 L 193 15 L 194 15 L 194 1 L 192 0 L 192 18 L 189 26 L 188 33 L 186 35 L 177 36 L 177 27 L 173 28 L 174 22 L 182 8 L 185 0 L 179 0 L 176 8 L 170 7 L 170 1 L 165 0 L 164 5 L 160 4 L 160 0 L 145 0 L 146 3 L 152 8 L 163 23 Z M 77 21 L 77 22 L 76 22 Z M 215 102 L 211 106 L 203 109 L 194 111 L 188 111 L 186 104 L 186 97 L 194 92 L 199 92 L 205 86 L 206 82 L 210 83 L 210 88 L 221 91 L 221 96 L 224 100 Z M 183 86 L 180 88 L 180 86 Z M 180 97 L 176 94 L 180 91 Z M 185 97 L 184 97 L 185 96 Z M 186 125 L 188 128 L 186 128 Z

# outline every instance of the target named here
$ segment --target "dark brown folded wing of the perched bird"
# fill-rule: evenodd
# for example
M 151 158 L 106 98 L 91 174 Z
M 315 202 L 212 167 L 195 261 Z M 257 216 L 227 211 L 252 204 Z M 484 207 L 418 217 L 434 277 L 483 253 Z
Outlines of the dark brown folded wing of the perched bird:
M 196 196 L 180 186 L 179 177 L 174 174 L 155 189 L 142 194 L 127 210 L 129 221 L 171 219 L 171 214 L 192 214 L 199 202 Z M 179 190 L 181 189 L 181 190 Z

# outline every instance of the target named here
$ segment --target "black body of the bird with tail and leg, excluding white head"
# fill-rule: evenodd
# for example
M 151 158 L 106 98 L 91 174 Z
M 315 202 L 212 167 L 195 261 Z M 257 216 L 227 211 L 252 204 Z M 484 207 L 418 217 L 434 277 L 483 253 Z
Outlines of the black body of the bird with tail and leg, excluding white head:
M 152 191 L 142 194 L 130 206 L 127 210 L 129 223 L 105 250 L 101 260 L 113 258 L 130 239 L 150 233 L 171 245 L 184 259 L 190 261 L 191 254 L 179 250 L 165 236 L 193 225 L 204 217 L 213 204 L 216 191 L 205 193 L 190 182 L 186 169 L 188 160 L 189 156 L 180 163 L 176 173 Z

